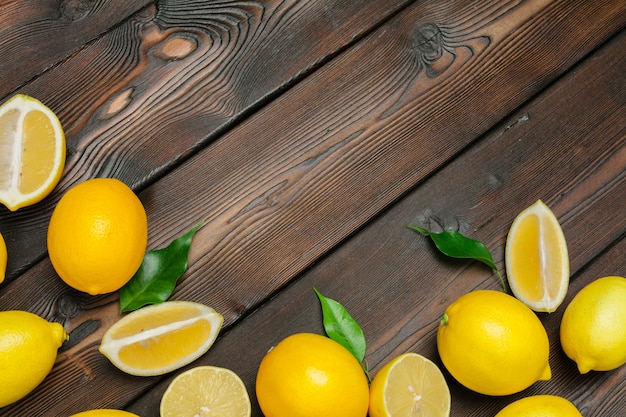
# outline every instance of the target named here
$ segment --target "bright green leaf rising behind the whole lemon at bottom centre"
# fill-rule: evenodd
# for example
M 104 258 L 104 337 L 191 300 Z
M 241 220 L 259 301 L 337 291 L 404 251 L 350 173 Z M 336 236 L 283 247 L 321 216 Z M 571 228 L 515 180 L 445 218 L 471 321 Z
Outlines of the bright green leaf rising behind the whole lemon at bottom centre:
M 352 318 L 348 310 L 340 303 L 324 297 L 313 288 L 322 305 L 324 330 L 328 337 L 339 343 L 359 361 L 365 358 L 365 335 L 361 326 Z

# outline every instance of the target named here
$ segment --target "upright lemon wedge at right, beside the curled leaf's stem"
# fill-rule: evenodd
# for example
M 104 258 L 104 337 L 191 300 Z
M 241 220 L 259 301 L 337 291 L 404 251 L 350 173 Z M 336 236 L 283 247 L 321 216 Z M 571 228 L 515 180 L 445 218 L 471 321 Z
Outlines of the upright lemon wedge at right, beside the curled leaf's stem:
M 513 220 L 505 263 L 511 291 L 531 309 L 552 312 L 565 299 L 569 285 L 567 243 L 556 216 L 541 200 Z

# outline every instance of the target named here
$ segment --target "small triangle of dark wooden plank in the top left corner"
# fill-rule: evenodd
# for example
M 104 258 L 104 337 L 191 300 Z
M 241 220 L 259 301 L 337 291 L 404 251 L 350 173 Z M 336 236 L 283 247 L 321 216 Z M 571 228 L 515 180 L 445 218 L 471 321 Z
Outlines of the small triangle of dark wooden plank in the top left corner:
M 0 97 L 59 64 L 150 3 L 149 0 L 2 2 Z

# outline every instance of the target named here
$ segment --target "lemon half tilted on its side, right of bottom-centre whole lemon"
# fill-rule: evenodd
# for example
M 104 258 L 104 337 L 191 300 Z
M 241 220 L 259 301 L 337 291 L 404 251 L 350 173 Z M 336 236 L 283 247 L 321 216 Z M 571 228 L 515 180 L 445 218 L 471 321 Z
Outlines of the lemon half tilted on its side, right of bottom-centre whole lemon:
M 448 417 L 450 390 L 431 360 L 405 353 L 383 366 L 370 386 L 369 417 Z

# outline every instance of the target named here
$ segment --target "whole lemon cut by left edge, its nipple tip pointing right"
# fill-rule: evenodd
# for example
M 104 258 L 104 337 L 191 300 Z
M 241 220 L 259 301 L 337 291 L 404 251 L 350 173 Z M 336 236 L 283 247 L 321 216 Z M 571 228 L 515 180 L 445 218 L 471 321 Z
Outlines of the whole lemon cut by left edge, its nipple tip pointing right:
M 0 407 L 25 397 L 45 379 L 66 339 L 59 323 L 27 311 L 0 312 Z

